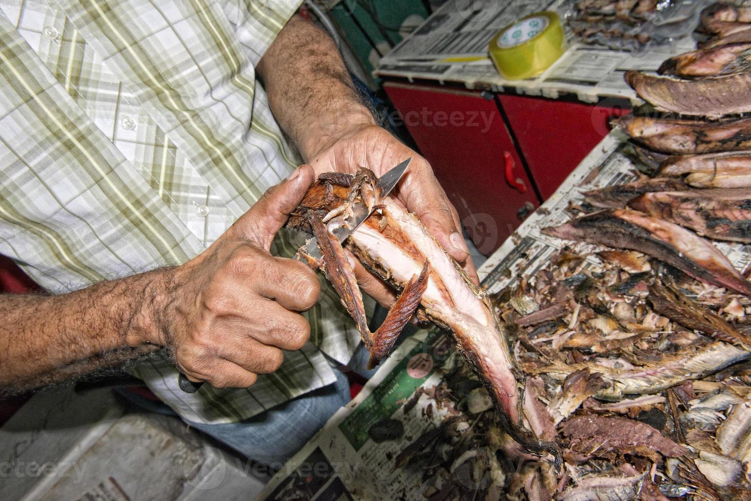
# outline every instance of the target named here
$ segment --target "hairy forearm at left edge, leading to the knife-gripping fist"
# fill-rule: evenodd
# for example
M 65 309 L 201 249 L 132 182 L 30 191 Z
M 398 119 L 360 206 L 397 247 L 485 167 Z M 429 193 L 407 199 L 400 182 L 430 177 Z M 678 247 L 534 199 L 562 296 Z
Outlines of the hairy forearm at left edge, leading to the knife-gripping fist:
M 39 388 L 159 348 L 167 269 L 61 295 L 2 294 L 0 391 Z

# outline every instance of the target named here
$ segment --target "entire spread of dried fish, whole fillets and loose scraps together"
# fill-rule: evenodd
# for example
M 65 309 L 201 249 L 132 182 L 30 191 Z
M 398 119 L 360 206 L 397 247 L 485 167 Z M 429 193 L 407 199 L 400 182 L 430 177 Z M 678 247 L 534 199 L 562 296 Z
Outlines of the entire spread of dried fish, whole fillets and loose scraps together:
M 751 282 L 705 238 L 751 243 L 751 119 L 728 116 L 751 111 L 748 22 L 713 5 L 716 38 L 665 62 L 669 76 L 627 75 L 680 114 L 615 122 L 656 177 L 585 193 L 583 214 L 544 230 L 579 243 L 493 297 L 526 378 L 523 424 L 559 445 L 562 472 L 514 443 L 450 360 L 422 392 L 448 417 L 396 458 L 427 499 L 751 499 Z

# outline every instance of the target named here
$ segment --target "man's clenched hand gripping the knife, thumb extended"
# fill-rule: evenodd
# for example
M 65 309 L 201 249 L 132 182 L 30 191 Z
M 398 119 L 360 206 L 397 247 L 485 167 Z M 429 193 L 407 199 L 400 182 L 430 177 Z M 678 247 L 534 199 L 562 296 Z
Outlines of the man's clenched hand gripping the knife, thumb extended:
M 312 183 L 303 166 L 269 189 L 209 249 L 173 269 L 160 336 L 180 370 L 215 388 L 247 388 L 303 347 L 310 326 L 299 312 L 318 300 L 315 272 L 269 248 Z

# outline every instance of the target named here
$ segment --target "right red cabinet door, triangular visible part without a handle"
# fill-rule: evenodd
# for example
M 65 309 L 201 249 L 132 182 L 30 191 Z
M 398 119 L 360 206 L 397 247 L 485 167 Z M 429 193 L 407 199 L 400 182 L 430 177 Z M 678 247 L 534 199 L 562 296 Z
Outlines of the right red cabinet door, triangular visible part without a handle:
M 521 95 L 498 97 L 543 200 L 608 134 L 608 118 L 630 111 L 628 101 L 595 106 Z

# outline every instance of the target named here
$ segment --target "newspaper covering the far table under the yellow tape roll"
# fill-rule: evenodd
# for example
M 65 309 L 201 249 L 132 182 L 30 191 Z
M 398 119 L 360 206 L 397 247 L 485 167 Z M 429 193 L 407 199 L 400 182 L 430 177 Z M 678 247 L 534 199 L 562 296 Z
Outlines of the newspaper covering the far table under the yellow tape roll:
M 482 8 L 476 8 L 478 3 Z M 572 44 L 540 76 L 529 80 L 503 79 L 487 58 L 487 46 L 493 35 L 528 14 L 539 11 L 562 14 L 564 9 L 564 0 L 449 0 L 381 59 L 375 75 L 403 77 L 410 81 L 417 78 L 454 82 L 469 89 L 511 91 L 547 98 L 572 94 L 585 102 L 625 98 L 633 104 L 641 104 L 623 80 L 623 74 L 629 70 L 656 71 L 665 59 L 695 49 L 691 37 L 650 47 L 641 53 Z

